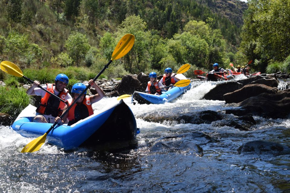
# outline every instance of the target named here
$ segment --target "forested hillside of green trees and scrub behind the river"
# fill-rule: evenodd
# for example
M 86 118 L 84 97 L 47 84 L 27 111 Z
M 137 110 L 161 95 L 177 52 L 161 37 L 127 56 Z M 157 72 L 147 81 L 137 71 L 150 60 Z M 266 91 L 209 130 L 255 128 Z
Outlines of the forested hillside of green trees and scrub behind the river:
M 237 0 L 0 2 L 0 59 L 21 68 L 98 70 L 121 36 L 134 34 L 133 49 L 110 66 L 108 77 L 176 70 L 185 63 L 209 69 L 214 62 L 236 62 L 247 9 Z

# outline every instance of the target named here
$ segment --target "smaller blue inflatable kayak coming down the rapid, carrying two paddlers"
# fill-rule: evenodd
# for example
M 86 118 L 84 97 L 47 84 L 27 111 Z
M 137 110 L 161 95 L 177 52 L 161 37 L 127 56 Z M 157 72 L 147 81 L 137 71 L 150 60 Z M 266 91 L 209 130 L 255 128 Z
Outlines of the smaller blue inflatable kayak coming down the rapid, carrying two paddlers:
M 161 95 L 148 94 L 135 91 L 131 98 L 131 103 L 135 104 L 164 104 L 176 99 L 191 88 L 191 84 L 186 87 L 173 87 L 172 89 L 162 92 Z

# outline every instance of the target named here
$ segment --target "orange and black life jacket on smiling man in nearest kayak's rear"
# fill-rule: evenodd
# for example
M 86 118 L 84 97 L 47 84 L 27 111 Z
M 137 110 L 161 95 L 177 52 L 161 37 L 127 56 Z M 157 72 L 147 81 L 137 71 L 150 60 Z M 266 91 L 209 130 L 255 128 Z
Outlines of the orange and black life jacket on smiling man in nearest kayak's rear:
M 54 93 L 53 84 L 46 84 L 47 90 Z M 68 90 L 64 89 L 57 96 L 65 100 Z M 63 113 L 65 103 L 51 96 L 50 93 L 45 93 L 44 97 L 40 100 L 40 105 L 37 107 L 36 112 L 45 115 L 52 115 L 54 117 L 60 116 Z

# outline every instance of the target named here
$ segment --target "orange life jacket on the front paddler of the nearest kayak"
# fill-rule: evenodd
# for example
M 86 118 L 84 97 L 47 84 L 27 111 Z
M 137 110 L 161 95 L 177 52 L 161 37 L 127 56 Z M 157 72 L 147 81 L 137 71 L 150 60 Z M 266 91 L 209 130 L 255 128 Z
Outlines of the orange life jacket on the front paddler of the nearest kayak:
M 66 101 L 66 103 L 68 104 L 68 106 L 71 106 L 72 104 L 72 99 L 68 99 Z M 67 116 L 67 120 L 69 121 L 68 125 L 72 125 L 73 123 L 78 122 L 81 119 L 85 119 L 88 116 L 91 116 L 92 114 L 94 114 L 93 108 L 92 108 L 92 104 L 91 104 L 91 100 L 89 97 L 85 97 L 82 100 L 82 109 L 78 109 L 79 112 L 75 112 L 76 107 L 78 106 L 78 104 L 74 104 L 70 109 L 69 109 L 69 114 Z M 86 108 L 83 108 L 86 107 Z M 76 113 L 78 113 L 79 115 L 82 115 L 81 117 L 76 117 Z

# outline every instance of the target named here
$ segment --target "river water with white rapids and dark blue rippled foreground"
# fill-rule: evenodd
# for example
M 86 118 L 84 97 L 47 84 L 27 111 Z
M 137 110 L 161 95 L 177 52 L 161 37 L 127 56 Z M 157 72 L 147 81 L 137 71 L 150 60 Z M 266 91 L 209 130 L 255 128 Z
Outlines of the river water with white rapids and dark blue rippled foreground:
M 133 105 L 124 101 L 137 117 L 136 147 L 63 151 L 44 144 L 34 153 L 18 148 L 32 138 L 24 138 L 9 127 L 0 126 L 1 192 L 290 192 L 290 155 L 239 154 L 238 148 L 253 140 L 290 145 L 290 120 L 253 116 L 250 131 L 211 124 L 184 124 L 166 120 L 158 123 L 145 115 L 184 114 L 201 110 L 223 112 L 224 101 L 200 100 L 215 85 L 194 82 L 192 89 L 174 103 Z M 94 104 L 100 110 L 116 103 L 105 98 Z M 234 119 L 227 115 L 227 119 Z M 181 138 L 203 133 L 207 138 Z M 185 139 L 184 148 L 154 149 L 161 139 Z M 179 137 L 178 137 L 179 136 Z M 192 148 L 190 148 L 192 147 Z

